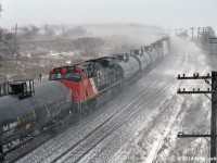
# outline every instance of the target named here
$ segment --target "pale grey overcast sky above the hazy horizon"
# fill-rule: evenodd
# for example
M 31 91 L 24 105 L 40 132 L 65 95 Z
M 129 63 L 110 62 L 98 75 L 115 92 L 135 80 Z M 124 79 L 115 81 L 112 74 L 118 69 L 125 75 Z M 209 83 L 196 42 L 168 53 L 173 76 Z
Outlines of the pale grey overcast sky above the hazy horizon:
M 2 0 L 0 26 L 140 23 L 163 27 L 214 26 L 217 0 Z

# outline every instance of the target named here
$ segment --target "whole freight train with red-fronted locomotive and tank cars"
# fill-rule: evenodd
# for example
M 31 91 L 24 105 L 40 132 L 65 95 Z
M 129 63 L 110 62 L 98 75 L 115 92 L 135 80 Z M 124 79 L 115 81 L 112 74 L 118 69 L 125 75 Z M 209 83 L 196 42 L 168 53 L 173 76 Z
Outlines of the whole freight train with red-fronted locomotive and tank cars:
M 0 86 L 0 156 L 15 140 L 67 115 L 80 116 L 107 92 L 116 92 L 169 52 L 169 37 L 130 53 L 89 60 L 49 72 L 48 83 L 9 82 Z

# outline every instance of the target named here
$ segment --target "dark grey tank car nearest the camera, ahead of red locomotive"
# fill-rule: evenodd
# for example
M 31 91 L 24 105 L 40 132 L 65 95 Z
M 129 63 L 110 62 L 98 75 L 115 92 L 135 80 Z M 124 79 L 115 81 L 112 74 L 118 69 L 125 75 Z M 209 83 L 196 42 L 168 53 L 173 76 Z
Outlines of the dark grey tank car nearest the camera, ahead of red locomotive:
M 72 106 L 68 89 L 58 82 L 5 83 L 0 87 L 0 155 L 11 142 L 41 129 Z

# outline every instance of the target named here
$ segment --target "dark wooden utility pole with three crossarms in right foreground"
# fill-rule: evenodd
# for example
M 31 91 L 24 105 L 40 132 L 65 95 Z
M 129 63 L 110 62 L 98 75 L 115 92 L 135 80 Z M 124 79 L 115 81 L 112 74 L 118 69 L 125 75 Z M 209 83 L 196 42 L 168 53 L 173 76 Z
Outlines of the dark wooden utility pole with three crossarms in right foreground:
M 178 79 L 204 79 L 206 84 L 210 86 L 207 90 L 197 90 L 186 91 L 186 89 L 178 89 L 177 93 L 204 93 L 212 101 L 212 117 L 210 117 L 210 134 L 209 135 L 186 135 L 181 131 L 178 133 L 178 137 L 188 138 L 188 137 L 204 137 L 210 138 L 210 163 L 216 163 L 216 109 L 217 109 L 217 72 L 212 72 L 212 76 L 200 76 L 199 73 L 194 74 L 191 77 L 186 77 L 178 75 Z M 212 84 L 210 84 L 212 80 Z M 207 95 L 210 93 L 209 98 Z

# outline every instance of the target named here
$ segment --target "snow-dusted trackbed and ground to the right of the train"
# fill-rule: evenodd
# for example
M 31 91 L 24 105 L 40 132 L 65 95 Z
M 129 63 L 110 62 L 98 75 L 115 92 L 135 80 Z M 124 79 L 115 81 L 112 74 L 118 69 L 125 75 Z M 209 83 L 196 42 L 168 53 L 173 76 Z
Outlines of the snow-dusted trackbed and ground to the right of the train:
M 189 40 L 174 38 L 171 42 L 171 54 L 148 75 L 18 162 L 176 163 L 179 156 L 208 158 L 205 139 L 177 138 L 178 131 L 209 131 L 210 117 L 205 96 L 180 96 L 177 89 L 208 86 L 176 77 L 206 75 L 216 68 L 217 58 L 204 54 Z

